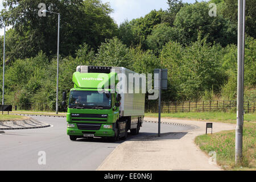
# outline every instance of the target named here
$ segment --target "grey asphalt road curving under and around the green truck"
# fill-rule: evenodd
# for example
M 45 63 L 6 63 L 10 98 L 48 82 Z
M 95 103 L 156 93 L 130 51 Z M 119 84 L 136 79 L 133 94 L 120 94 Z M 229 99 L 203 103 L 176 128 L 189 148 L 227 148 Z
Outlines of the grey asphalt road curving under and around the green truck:
M 0 170 L 95 170 L 115 147 L 124 142 L 118 140 L 113 143 L 101 138 L 77 139 L 73 142 L 66 134 L 65 118 L 34 118 L 52 126 L 5 130 L 5 133 L 0 134 Z M 161 125 L 161 133 L 190 129 L 188 126 Z M 156 133 L 157 123 L 144 122 L 140 133 L 129 134 L 127 140 Z M 46 164 L 39 164 L 42 156 Z

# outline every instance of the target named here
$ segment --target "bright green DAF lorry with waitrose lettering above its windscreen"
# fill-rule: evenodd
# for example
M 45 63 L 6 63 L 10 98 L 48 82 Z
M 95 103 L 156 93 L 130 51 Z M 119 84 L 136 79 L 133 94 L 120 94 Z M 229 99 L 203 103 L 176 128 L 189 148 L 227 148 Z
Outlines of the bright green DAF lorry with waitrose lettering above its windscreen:
M 77 138 L 126 139 L 138 134 L 144 118 L 144 93 L 128 91 L 135 72 L 123 67 L 79 66 L 73 73 L 67 111 L 67 134 Z M 116 89 L 119 86 L 125 90 Z

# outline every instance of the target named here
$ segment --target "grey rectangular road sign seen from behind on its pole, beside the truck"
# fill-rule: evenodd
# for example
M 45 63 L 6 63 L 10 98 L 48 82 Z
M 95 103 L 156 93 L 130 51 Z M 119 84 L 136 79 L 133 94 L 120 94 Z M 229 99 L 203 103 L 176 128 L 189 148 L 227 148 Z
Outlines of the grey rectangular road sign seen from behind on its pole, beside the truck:
M 167 69 L 154 69 L 154 89 L 159 89 L 158 102 L 158 137 L 160 137 L 160 122 L 161 122 L 161 90 L 167 89 Z

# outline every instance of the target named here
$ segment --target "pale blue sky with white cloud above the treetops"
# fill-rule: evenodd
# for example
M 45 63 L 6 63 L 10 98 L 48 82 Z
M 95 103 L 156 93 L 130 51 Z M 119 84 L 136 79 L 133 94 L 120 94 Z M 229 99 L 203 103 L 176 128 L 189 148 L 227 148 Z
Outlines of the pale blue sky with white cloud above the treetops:
M 141 18 L 150 13 L 151 10 L 167 10 L 167 0 L 101 0 L 103 3 L 109 2 L 114 10 L 110 16 L 118 25 L 127 20 Z M 194 3 L 196 0 L 183 0 L 183 2 Z M 199 2 L 203 0 L 198 0 Z M 3 9 L 3 0 L 0 0 L 0 11 Z M 7 27 L 6 31 L 11 28 Z M 0 29 L 0 35 L 3 35 L 3 28 Z

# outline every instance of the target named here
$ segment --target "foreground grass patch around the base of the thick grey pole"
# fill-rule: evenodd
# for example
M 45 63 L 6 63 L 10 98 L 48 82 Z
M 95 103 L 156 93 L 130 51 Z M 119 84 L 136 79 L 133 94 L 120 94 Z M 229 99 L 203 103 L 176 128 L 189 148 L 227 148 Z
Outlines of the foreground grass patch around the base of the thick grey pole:
M 200 135 L 195 143 L 209 154 L 215 151 L 217 164 L 225 170 L 256 170 L 256 124 L 245 122 L 243 125 L 243 161 L 242 166 L 235 165 L 236 131 L 221 131 L 212 135 Z

